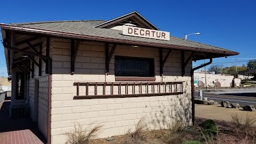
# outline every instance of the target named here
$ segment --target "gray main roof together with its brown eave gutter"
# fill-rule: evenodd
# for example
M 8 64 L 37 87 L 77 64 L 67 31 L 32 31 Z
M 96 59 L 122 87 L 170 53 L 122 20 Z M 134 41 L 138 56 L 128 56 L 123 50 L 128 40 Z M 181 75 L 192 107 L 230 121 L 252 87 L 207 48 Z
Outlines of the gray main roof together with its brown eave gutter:
M 137 15 L 137 12 L 132 12 Z M 130 15 L 132 13 L 128 13 Z M 125 17 L 122 16 L 122 17 Z M 116 18 L 120 19 L 120 17 Z M 93 40 L 100 42 L 112 42 L 117 44 L 141 45 L 147 47 L 161 47 L 168 49 L 179 49 L 184 51 L 195 51 L 204 53 L 198 54 L 193 60 L 204 60 L 205 58 L 218 58 L 221 56 L 233 56 L 238 52 L 214 47 L 212 45 L 193 42 L 170 36 L 170 40 L 157 40 L 151 38 L 142 38 L 135 36 L 122 35 L 122 31 L 116 29 L 99 28 L 104 24 L 109 24 L 113 20 L 65 20 L 65 21 L 50 21 L 50 22 L 26 22 L 17 24 L 0 24 L 3 30 L 15 30 L 22 33 L 35 33 L 38 35 L 49 35 L 66 38 L 77 38 L 83 40 Z M 4 37 L 4 36 L 3 36 Z M 209 53 L 209 55 L 205 55 Z

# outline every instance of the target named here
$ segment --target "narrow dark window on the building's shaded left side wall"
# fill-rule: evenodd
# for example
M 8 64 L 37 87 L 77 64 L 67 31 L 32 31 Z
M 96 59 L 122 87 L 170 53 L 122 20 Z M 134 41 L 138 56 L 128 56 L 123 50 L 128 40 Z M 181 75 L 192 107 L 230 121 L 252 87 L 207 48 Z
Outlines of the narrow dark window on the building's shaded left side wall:
M 16 74 L 16 95 L 15 99 L 24 99 L 24 74 Z

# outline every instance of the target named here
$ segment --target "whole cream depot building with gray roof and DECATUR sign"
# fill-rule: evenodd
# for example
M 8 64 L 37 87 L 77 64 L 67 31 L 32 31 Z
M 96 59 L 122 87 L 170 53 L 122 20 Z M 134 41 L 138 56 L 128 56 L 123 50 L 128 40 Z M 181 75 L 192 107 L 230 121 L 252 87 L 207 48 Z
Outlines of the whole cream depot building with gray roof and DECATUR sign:
M 177 120 L 193 125 L 193 71 L 238 54 L 174 37 L 138 12 L 0 26 L 12 76 L 10 116 L 24 108 L 48 143 L 65 143 L 75 122 L 103 124 L 100 138 L 124 134 L 141 118 L 148 129 Z

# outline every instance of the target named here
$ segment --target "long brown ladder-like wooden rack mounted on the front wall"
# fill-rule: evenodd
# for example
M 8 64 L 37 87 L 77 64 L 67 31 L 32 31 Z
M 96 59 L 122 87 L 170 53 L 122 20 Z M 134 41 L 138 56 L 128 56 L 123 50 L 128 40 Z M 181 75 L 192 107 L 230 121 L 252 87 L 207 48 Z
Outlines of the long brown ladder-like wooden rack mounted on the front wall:
M 104 99 L 118 97 L 149 97 L 183 93 L 183 81 L 177 82 L 75 82 L 74 99 Z M 80 95 L 85 87 L 85 95 Z M 84 90 L 82 90 L 84 92 Z

